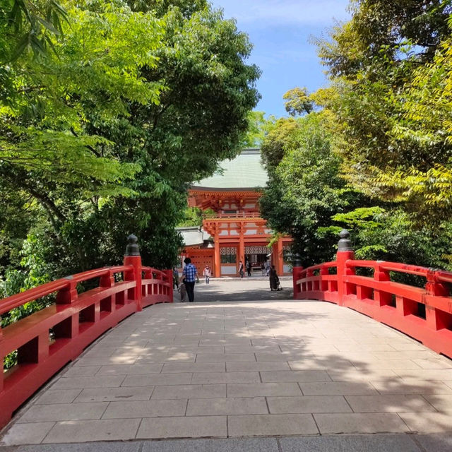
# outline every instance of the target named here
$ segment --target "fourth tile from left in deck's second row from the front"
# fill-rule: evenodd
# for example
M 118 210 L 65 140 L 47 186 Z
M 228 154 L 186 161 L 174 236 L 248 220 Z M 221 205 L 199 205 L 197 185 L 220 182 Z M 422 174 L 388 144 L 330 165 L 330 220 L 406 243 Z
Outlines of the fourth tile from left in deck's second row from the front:
M 309 412 L 352 412 L 343 396 L 268 397 L 272 414 Z

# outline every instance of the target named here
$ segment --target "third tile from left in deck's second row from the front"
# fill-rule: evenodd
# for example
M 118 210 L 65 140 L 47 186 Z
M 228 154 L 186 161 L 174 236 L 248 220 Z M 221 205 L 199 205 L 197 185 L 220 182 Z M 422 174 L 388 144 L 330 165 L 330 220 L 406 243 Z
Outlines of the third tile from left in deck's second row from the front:
M 190 399 L 187 416 L 261 415 L 268 414 L 263 397 Z

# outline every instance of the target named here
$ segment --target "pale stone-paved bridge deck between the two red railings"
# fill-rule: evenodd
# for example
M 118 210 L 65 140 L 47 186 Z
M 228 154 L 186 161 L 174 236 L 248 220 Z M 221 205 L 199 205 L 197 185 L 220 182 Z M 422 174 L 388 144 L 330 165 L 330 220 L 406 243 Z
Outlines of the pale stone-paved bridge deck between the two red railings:
M 448 431 L 451 360 L 350 309 L 273 300 L 160 304 L 129 317 L 2 440 Z

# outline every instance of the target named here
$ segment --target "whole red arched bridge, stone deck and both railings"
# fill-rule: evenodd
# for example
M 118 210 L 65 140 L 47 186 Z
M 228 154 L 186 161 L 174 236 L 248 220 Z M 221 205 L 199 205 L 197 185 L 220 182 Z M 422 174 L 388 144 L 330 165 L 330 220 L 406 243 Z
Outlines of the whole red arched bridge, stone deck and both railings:
M 356 260 L 341 234 L 336 261 L 295 262 L 294 299 L 162 304 L 172 271 L 142 266 L 133 236 L 123 266 L 1 300 L 4 314 L 56 294 L 0 330 L 0 356 L 18 356 L 0 377 L 2 426 L 56 375 L 5 444 L 452 431 L 452 273 Z

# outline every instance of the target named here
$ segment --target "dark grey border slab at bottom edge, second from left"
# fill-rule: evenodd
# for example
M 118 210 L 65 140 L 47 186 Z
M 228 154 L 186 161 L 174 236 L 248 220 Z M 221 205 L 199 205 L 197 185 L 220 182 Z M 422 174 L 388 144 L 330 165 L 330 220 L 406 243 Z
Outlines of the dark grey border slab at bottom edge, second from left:
M 213 452 L 213 451 L 278 452 L 278 443 L 276 442 L 275 438 L 179 439 L 167 441 L 143 441 L 143 449 L 141 450 L 141 452 Z

